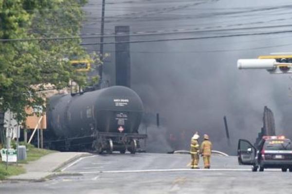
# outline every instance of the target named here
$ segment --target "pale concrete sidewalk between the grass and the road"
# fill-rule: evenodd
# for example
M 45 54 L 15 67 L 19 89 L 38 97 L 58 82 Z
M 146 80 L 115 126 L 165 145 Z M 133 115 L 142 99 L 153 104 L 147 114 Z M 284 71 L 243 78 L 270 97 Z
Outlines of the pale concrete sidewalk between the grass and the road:
M 25 174 L 11 176 L 8 180 L 41 181 L 46 177 L 57 175 L 61 167 L 84 156 L 90 156 L 87 152 L 56 152 L 45 155 L 37 161 L 21 164 Z

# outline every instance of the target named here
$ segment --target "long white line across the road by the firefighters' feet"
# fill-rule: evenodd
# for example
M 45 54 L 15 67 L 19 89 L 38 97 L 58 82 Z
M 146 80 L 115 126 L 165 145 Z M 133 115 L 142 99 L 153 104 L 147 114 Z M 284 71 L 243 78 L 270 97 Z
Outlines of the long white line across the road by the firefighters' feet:
M 245 171 L 251 172 L 251 169 L 238 169 L 238 168 L 211 168 L 211 169 L 150 169 L 150 170 L 110 170 L 110 171 L 84 171 L 78 172 L 81 174 L 97 174 L 97 173 L 151 173 L 151 172 L 183 172 L 183 171 Z M 280 169 L 266 169 L 265 171 L 280 171 Z M 68 171 L 74 172 L 74 171 Z

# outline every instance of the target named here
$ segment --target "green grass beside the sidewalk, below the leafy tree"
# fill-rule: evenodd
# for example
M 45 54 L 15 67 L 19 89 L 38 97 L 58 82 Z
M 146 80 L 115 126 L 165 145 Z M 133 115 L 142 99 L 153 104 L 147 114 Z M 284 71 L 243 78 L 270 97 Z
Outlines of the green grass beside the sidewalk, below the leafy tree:
M 22 160 L 22 161 L 18 161 L 18 163 L 20 163 L 20 164 L 28 163 L 31 161 L 36 161 L 39 158 L 41 158 L 42 156 L 56 152 L 56 151 L 48 150 L 48 149 L 38 149 L 30 144 L 27 144 L 25 146 L 27 149 L 26 150 L 27 159 Z M 9 164 L 8 169 L 6 170 L 6 163 L 1 162 L 1 160 L 0 160 L 0 180 L 5 179 L 8 176 L 19 175 L 22 173 L 25 173 L 25 169 L 21 165 Z

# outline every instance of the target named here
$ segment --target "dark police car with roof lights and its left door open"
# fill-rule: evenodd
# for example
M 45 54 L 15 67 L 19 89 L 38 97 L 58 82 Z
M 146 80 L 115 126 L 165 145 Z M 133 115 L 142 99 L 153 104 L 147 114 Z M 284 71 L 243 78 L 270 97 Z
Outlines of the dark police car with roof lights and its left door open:
M 283 172 L 292 172 L 292 145 L 285 136 L 263 136 L 258 145 L 249 141 L 238 141 L 238 163 L 252 165 L 252 171 L 264 171 L 265 168 L 281 168 Z

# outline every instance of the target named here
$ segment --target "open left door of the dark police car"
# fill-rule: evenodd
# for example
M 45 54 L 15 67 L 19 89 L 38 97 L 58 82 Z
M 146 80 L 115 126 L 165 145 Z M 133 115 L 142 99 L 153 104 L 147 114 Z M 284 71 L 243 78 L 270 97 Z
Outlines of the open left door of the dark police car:
M 256 163 L 256 148 L 247 140 L 238 140 L 237 155 L 240 165 L 254 165 Z

